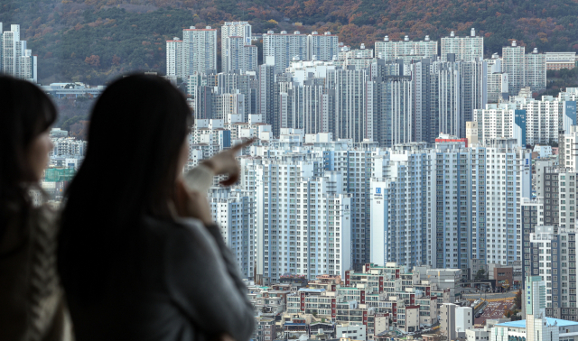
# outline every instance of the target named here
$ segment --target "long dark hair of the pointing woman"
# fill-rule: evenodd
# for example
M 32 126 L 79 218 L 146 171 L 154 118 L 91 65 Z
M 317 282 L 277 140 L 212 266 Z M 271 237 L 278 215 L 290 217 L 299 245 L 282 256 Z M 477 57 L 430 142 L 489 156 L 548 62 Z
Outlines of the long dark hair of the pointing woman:
M 191 120 L 182 93 L 156 76 L 120 78 L 98 98 L 61 217 L 58 265 L 69 293 L 96 299 L 110 265 L 138 242 L 142 219 L 171 219 Z

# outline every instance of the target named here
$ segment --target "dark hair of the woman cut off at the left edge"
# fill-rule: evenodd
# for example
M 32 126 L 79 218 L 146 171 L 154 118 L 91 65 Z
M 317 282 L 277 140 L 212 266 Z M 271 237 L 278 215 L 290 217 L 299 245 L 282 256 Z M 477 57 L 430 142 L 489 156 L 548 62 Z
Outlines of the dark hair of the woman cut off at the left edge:
M 56 120 L 51 99 L 32 83 L 0 76 L 0 240 L 14 217 L 25 218 L 33 170 L 26 159 L 30 143 Z M 37 185 L 37 184 L 36 184 Z

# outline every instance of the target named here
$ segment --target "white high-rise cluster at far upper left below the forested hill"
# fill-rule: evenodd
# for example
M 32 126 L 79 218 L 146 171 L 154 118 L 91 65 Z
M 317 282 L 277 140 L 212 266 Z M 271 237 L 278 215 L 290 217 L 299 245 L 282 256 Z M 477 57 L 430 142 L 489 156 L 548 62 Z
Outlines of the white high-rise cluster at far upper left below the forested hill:
M 20 40 L 18 24 L 10 25 L 10 31 L 5 31 L 0 23 L 0 73 L 36 83 L 37 57 L 26 49 L 26 41 Z

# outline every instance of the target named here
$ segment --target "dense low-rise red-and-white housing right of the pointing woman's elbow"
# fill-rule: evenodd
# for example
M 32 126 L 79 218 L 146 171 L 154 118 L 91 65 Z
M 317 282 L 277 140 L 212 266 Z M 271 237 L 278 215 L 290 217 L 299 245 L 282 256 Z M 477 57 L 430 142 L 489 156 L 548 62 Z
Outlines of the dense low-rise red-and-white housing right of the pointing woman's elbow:
M 460 298 L 460 279 L 457 269 L 368 263 L 344 277 L 324 274 L 303 281 L 285 275 L 269 286 L 249 282 L 257 321 L 253 339 L 385 341 L 392 334 L 414 334 L 437 325 L 443 304 Z

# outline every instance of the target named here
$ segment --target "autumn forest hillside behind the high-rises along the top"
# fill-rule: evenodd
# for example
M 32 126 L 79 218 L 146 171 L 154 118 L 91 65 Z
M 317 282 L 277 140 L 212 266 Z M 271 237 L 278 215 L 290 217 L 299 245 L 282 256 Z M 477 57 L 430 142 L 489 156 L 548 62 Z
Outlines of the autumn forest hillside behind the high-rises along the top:
M 528 49 L 578 51 L 578 0 L 18 0 L 0 1 L 0 22 L 21 25 L 38 55 L 39 81 L 106 84 L 130 70 L 165 70 L 165 41 L 191 25 L 245 20 L 253 32 L 331 31 L 373 46 L 388 34 L 438 39 L 471 27 L 485 53 L 517 40 Z M 219 59 L 220 61 L 220 59 Z

